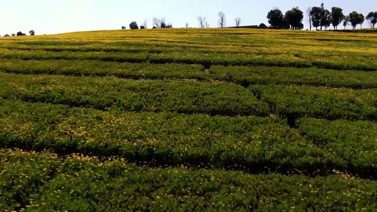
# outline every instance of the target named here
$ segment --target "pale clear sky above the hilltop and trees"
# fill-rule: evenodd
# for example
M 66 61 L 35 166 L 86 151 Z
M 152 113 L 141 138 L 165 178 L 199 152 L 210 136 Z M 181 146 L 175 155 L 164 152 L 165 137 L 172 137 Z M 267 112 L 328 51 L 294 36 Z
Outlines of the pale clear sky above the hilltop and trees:
M 277 7 L 283 14 L 299 7 L 304 14 L 309 6 L 320 6 L 322 0 L 0 0 L 0 35 L 21 31 L 36 35 L 63 32 L 121 29 L 136 21 L 140 26 L 147 19 L 152 28 L 153 17 L 165 17 L 174 28 L 198 27 L 199 15 L 211 27 L 218 27 L 218 12 L 225 13 L 226 26 L 234 26 L 234 18 L 242 25 L 268 25 L 267 13 Z M 377 11 L 376 0 L 324 0 L 325 8 L 337 6 L 344 14 L 357 11 L 364 15 Z M 309 28 L 304 15 L 304 29 Z M 369 27 L 364 23 L 363 28 Z M 350 27 L 348 27 L 350 28 Z

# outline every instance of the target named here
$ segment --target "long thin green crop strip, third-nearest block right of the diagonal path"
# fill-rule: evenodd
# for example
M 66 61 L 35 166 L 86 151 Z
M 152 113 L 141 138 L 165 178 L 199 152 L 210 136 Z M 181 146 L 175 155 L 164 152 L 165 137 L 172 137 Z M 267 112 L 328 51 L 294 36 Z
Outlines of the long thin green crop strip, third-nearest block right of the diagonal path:
M 377 72 L 328 70 L 318 68 L 285 68 L 266 66 L 211 66 L 216 78 L 243 84 L 296 84 L 333 86 L 353 89 L 377 88 Z

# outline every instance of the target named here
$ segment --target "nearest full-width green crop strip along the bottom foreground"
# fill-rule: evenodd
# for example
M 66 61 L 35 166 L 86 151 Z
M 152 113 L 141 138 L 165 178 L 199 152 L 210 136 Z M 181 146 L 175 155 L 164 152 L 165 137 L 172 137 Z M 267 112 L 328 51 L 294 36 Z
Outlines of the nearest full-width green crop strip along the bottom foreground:
M 374 181 L 148 168 L 73 155 L 0 153 L 1 207 L 25 211 L 345 211 L 377 209 Z M 51 164 L 54 164 L 53 166 Z M 56 168 L 55 168 L 56 167 Z M 32 171 L 31 171 L 32 170 Z M 46 172 L 54 172 L 45 179 Z M 12 182 L 9 179 L 14 179 Z M 34 187 L 34 182 L 42 184 Z M 25 196 L 15 199 L 22 185 Z M 18 206 L 17 206 L 18 205 Z

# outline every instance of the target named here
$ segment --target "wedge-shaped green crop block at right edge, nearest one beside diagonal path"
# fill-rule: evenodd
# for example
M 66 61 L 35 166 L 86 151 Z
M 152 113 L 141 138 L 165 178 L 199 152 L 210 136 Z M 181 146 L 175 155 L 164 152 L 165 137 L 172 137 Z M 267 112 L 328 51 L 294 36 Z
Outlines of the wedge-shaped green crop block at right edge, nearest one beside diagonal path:
M 350 169 L 364 169 L 361 172 L 375 169 L 377 123 L 300 118 L 297 120 L 297 126 L 300 132 L 317 146 L 343 158 L 342 160 L 347 162 Z

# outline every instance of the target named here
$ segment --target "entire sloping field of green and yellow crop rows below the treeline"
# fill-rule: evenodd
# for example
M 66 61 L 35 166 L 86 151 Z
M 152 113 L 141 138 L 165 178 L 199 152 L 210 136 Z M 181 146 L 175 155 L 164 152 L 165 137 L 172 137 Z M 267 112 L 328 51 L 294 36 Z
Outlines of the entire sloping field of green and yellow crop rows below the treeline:
M 0 211 L 376 211 L 377 34 L 0 38 Z

